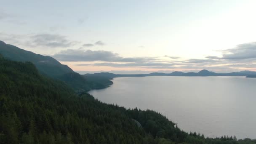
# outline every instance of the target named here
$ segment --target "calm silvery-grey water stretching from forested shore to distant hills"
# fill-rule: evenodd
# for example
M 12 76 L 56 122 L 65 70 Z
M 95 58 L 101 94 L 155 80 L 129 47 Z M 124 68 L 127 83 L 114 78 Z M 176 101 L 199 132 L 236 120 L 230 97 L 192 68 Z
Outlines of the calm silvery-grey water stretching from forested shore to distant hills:
M 126 108 L 153 109 L 187 132 L 256 138 L 256 78 L 119 77 L 90 93 Z

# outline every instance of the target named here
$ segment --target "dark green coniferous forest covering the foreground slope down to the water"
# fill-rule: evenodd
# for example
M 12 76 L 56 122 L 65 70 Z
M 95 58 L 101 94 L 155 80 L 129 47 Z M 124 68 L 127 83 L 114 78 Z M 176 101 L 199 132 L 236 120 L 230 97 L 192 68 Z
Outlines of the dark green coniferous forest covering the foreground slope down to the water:
M 152 110 L 104 104 L 41 75 L 31 62 L 0 57 L 0 144 L 251 144 L 181 131 Z M 139 122 L 139 123 L 138 123 Z

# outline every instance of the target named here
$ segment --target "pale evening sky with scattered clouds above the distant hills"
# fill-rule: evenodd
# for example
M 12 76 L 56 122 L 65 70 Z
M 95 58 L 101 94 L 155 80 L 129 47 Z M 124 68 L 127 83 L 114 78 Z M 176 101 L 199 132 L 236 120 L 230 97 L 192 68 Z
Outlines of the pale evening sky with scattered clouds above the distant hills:
M 0 3 L 0 40 L 80 73 L 256 71 L 256 0 Z

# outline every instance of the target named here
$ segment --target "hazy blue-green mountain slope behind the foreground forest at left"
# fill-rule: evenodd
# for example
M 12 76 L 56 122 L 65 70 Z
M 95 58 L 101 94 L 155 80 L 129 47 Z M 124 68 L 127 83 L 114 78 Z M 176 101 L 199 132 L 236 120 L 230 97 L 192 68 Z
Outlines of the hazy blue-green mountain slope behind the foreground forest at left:
M 86 77 L 74 72 L 67 65 L 61 64 L 51 56 L 43 56 L 26 51 L 3 41 L 0 41 L 0 54 L 13 61 L 30 61 L 35 64 L 41 74 L 64 81 L 77 91 L 89 91 L 98 87 L 106 88 L 109 84 L 109 82 L 108 84 L 99 84 L 101 81 L 88 77 L 87 80 Z

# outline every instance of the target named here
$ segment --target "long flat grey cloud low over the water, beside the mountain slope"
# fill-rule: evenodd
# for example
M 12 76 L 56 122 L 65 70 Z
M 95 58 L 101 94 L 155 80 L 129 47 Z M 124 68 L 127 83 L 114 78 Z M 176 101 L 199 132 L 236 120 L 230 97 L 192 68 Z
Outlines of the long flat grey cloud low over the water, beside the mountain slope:
M 154 57 L 122 57 L 111 51 L 84 51 L 83 49 L 68 49 L 53 55 L 59 61 L 108 61 L 108 62 L 147 62 Z

